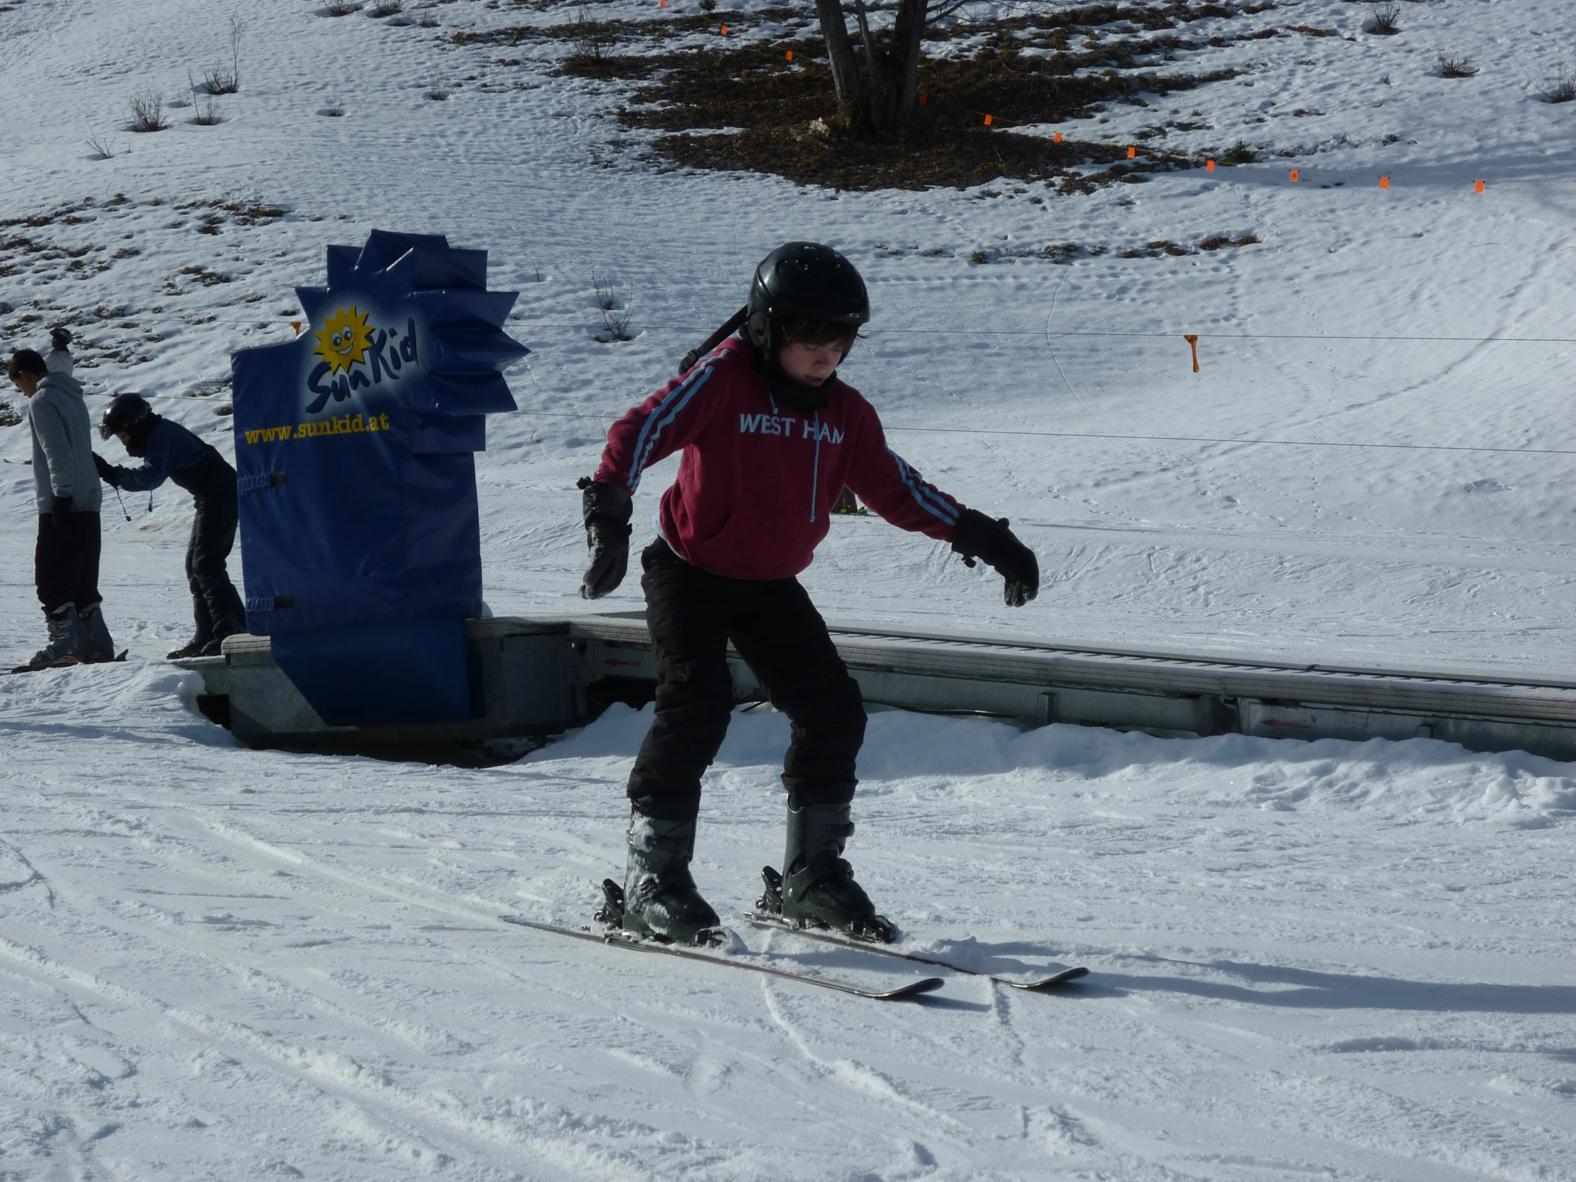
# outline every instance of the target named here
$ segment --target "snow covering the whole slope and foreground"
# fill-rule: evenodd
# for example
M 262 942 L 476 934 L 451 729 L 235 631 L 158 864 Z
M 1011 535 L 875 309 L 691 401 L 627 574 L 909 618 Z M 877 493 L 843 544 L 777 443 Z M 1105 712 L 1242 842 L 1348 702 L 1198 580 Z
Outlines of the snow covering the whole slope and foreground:
M 1046 571 L 1009 611 L 946 547 L 838 522 L 805 575 L 829 616 L 1571 675 L 1576 104 L 1535 91 L 1576 9 L 1401 8 L 1393 38 L 1336 0 L 1236 17 L 1283 35 L 1171 102 L 1212 126 L 1168 147 L 1303 154 L 1031 203 L 657 173 L 607 148 L 611 96 L 444 39 L 572 9 L 479 0 L 413 11 L 437 28 L 260 0 L 224 121 L 134 136 L 128 98 L 224 57 L 229 13 L 9 0 L 0 217 L 27 221 L 0 236 L 0 344 L 69 314 L 95 414 L 142 389 L 227 448 L 227 353 L 290 333 L 323 246 L 487 247 L 536 350 L 479 457 L 487 597 L 571 613 L 605 424 L 771 246 L 824 240 L 875 301 L 846 377 Z M 1442 50 L 1480 72 L 1437 77 Z M 1072 131 L 1173 118 L 1105 115 Z M 1121 257 L 1220 233 L 1259 243 Z M 635 340 L 594 339 L 593 271 Z M 1128 333 L 1158 336 L 1095 336 Z M 16 659 L 41 641 L 27 455 L 0 429 Z M 482 772 L 236 750 L 159 660 L 189 630 L 189 512 L 153 504 L 106 512 L 132 660 L 0 682 L 0 1177 L 1576 1177 L 1570 766 L 876 716 L 851 853 L 911 941 L 1094 969 L 883 1007 L 496 922 L 580 920 L 621 864 L 634 712 Z M 725 913 L 780 857 L 785 742 L 739 716 L 708 779 Z

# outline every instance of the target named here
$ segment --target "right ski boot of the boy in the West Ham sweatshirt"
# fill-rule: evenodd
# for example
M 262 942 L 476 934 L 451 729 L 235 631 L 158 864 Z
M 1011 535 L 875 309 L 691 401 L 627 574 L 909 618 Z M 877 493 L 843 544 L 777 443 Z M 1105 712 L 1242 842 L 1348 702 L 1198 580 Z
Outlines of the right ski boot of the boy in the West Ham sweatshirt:
M 756 906 L 801 928 L 835 928 L 854 939 L 890 944 L 897 927 L 878 916 L 854 868 L 843 860 L 843 846 L 854 835 L 846 804 L 788 805 L 788 848 L 783 870 L 761 870 L 766 894 Z

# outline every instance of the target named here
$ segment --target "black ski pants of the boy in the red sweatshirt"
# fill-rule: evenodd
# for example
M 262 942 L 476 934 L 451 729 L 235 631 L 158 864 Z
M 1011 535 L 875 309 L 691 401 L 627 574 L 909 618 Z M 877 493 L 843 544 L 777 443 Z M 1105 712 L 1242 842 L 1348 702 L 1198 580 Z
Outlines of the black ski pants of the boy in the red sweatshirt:
M 799 580 L 723 578 L 690 566 L 662 539 L 640 561 L 657 703 L 629 775 L 634 807 L 668 821 L 693 820 L 700 810 L 700 777 L 733 712 L 730 640 L 791 723 L 783 761 L 790 802 L 853 801 L 865 708 Z

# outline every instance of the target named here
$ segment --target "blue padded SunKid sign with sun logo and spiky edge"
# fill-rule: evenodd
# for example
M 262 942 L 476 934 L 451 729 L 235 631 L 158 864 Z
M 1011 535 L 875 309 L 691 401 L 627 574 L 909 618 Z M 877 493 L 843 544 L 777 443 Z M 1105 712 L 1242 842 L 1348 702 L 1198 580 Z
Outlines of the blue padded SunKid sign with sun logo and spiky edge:
M 487 290 L 485 251 L 374 230 L 296 298 L 295 340 L 232 355 L 247 630 L 329 725 L 470 717 L 473 452 L 515 408 L 517 293 Z

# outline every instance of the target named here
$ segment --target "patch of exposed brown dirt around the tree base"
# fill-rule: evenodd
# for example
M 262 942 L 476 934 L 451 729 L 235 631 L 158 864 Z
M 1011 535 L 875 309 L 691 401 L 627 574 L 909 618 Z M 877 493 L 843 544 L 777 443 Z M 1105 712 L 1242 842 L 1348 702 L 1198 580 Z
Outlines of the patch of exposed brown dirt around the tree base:
M 1089 192 L 1144 173 L 1193 167 L 1177 151 L 1073 140 L 1054 143 L 1046 125 L 1095 117 L 1105 104 L 1149 106 L 1147 96 L 1229 79 L 1229 69 L 1158 72 L 1179 54 L 1231 41 L 1277 36 L 1275 28 L 1188 39 L 1173 30 L 1206 17 L 1237 17 L 1273 8 L 1086 5 L 1054 13 L 935 28 L 920 63 L 920 104 L 900 143 L 849 136 L 837 118 L 824 43 L 802 11 L 671 16 L 656 20 L 591 20 L 454 33 L 457 44 L 520 46 L 567 41 L 559 72 L 621 88 L 619 123 L 660 132 L 651 148 L 668 167 L 763 172 L 834 189 L 969 188 L 998 178 L 1043 181 L 1062 192 Z M 730 36 L 723 19 L 734 20 Z M 750 27 L 797 28 L 771 41 Z M 1113 28 L 1116 27 L 1116 28 Z M 709 44 L 678 47 L 676 38 Z M 1080 44 L 1073 44 L 1081 38 Z M 950 52 L 960 41 L 972 52 Z M 983 44 L 982 44 L 983 41 Z M 517 65 L 500 60 L 495 65 Z M 987 118 L 988 117 L 988 118 Z M 1034 131 L 1028 131 L 1032 128 Z

